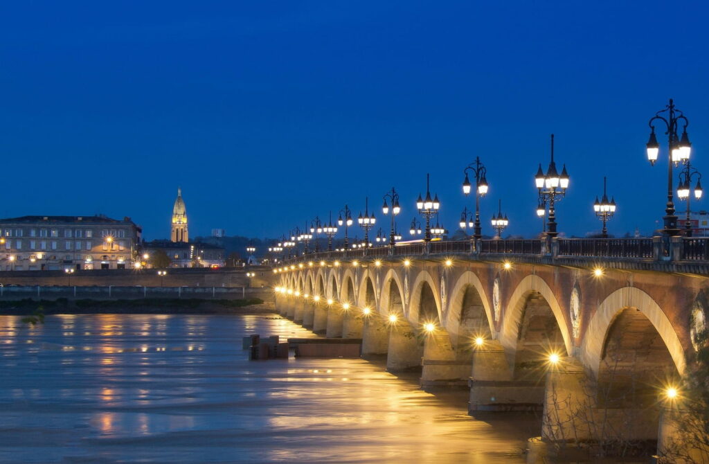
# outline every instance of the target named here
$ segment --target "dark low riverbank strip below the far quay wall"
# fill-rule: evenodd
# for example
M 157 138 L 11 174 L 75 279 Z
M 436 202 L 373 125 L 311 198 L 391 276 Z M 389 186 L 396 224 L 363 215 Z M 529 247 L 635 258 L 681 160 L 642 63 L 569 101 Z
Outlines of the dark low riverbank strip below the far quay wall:
M 0 303 L 0 315 L 49 314 L 270 314 L 272 302 L 247 299 L 21 299 Z

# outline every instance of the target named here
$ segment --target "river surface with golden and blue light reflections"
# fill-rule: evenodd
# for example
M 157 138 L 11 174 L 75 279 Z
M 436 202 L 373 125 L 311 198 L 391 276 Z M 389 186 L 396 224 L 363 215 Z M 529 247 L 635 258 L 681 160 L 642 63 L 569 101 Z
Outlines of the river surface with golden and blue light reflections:
M 279 316 L 0 316 L 0 462 L 523 463 L 540 426 L 357 359 L 249 361 Z

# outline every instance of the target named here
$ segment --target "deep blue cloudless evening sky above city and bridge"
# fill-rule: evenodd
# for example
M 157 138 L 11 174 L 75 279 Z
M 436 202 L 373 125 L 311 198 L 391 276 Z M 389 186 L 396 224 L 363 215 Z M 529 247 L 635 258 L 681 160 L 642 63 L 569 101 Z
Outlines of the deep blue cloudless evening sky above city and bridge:
M 571 175 L 559 230 L 600 229 L 591 204 L 608 175 L 610 233 L 649 233 L 664 214 L 666 158 L 647 162 L 647 120 L 669 98 L 691 121 L 693 162 L 709 167 L 708 9 L 4 2 L 0 214 L 131 216 L 164 238 L 180 186 L 191 236 L 274 237 L 345 203 L 356 215 L 366 195 L 384 226 L 381 196 L 395 186 L 406 229 L 430 172 L 454 231 L 473 204 L 462 170 L 479 155 L 484 233 L 502 199 L 507 232 L 532 236 L 533 176 L 553 132 Z

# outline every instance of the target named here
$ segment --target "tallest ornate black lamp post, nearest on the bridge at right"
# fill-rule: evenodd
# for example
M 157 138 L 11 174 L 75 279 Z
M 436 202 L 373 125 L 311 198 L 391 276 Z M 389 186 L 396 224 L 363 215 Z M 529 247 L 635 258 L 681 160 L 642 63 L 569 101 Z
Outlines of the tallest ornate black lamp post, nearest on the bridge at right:
M 689 155 L 692 149 L 692 144 L 689 143 L 689 136 L 687 135 L 689 120 L 682 114 L 682 111 L 675 108 L 672 99 L 669 100 L 669 104 L 665 106 L 665 109 L 657 111 L 655 116 L 650 118 L 647 123 L 650 126 L 650 138 L 645 146 L 647 147 L 647 160 L 649 160 L 650 165 L 653 166 L 657 161 L 660 150 L 660 145 L 657 143 L 657 137 L 655 136 L 654 126 L 654 123 L 658 121 L 662 121 L 666 128 L 665 134 L 667 136 L 667 155 L 669 160 L 667 163 L 667 204 L 665 206 L 665 215 L 662 217 L 664 227 L 660 232 L 664 236 L 676 236 L 679 235 L 679 228 L 677 226 L 677 216 L 674 214 L 672 168 L 673 165 L 677 167 L 680 162 L 686 165 L 689 161 Z M 682 123 L 681 138 L 679 138 L 678 135 L 679 123 Z

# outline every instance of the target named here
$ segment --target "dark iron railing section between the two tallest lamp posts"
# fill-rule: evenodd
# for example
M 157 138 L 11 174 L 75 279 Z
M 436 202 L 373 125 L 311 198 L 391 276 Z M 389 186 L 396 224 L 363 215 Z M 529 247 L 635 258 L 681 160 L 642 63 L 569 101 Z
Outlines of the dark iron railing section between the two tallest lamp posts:
M 652 258 L 652 238 L 560 238 L 559 256 Z

